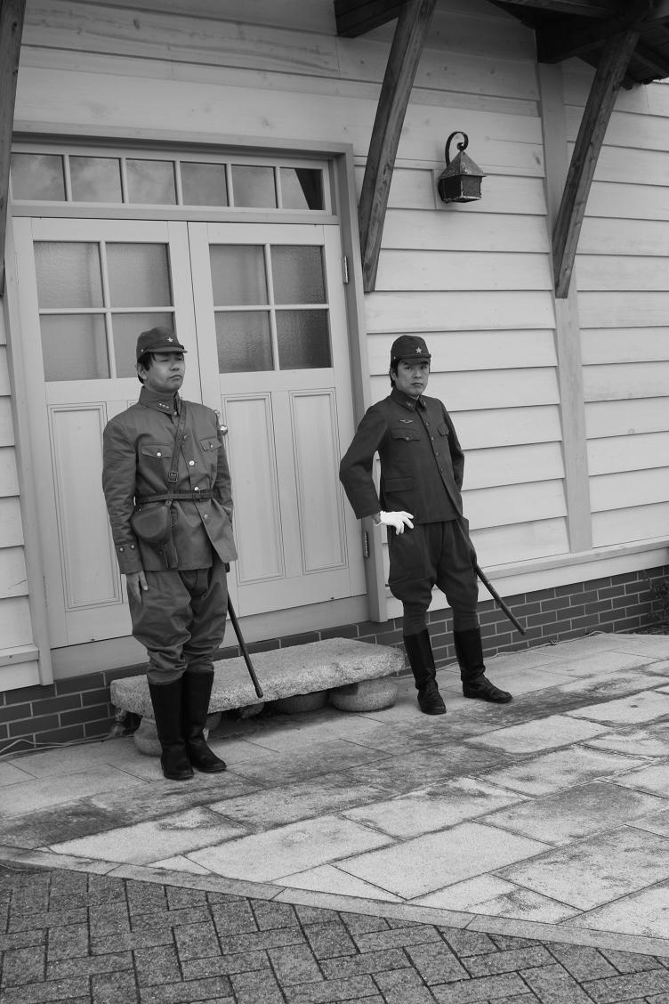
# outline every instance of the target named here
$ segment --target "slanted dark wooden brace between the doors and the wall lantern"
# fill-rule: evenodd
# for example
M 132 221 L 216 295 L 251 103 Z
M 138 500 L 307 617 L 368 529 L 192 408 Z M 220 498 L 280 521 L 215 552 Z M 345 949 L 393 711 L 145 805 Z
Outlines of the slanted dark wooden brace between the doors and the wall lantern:
M 435 3 L 436 0 L 405 0 L 390 47 L 358 209 L 363 288 L 366 293 L 371 292 L 376 284 L 392 170 L 406 105 Z

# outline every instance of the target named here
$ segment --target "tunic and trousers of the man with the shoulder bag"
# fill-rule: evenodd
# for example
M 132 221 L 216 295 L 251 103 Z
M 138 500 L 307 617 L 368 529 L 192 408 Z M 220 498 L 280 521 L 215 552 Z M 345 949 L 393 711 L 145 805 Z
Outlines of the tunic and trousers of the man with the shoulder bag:
M 169 490 L 181 399 L 142 387 L 137 404 L 111 419 L 103 434 L 102 487 L 118 567 L 126 575 L 143 571 L 148 585 L 128 602 L 132 634 L 148 653 L 149 683 L 170 683 L 187 669 L 212 672 L 225 633 L 226 564 L 237 557 L 217 415 L 193 402 L 185 406 L 175 484 L 182 497 L 172 503 L 169 548 L 137 538 L 130 517 L 142 499 Z

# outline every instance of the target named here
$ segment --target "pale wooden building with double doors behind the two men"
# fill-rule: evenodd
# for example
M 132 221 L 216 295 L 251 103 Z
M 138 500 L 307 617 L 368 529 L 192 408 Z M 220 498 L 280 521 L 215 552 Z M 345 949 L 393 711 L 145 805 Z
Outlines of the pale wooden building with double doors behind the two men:
M 142 661 L 101 432 L 154 323 L 229 428 L 251 643 L 400 640 L 337 466 L 403 332 L 528 624 L 481 591 L 487 651 L 648 622 L 668 74 L 667 0 L 0 0 L 0 745 L 104 734 L 110 676 Z M 437 194 L 453 132 L 485 175 L 466 205 Z M 447 616 L 435 595 L 442 660 Z

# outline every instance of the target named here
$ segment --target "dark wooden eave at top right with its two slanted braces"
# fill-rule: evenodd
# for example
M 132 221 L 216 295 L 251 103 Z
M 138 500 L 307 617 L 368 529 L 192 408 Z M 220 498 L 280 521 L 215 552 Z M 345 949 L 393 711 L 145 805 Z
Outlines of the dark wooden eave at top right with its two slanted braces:
M 618 91 L 669 76 L 669 0 L 488 2 L 535 32 L 540 62 L 578 57 L 596 70 L 553 235 L 556 296 L 566 297 L 590 187 Z M 441 3 L 447 9 L 447 0 Z M 375 286 L 387 196 L 408 103 L 406 84 L 413 80 L 420 57 L 412 43 L 410 62 L 398 73 L 398 53 L 409 51 L 409 36 L 414 42 L 418 33 L 423 40 L 427 37 L 428 6 L 425 0 L 334 0 L 337 33 L 349 38 L 397 18 L 358 209 L 365 292 Z M 423 24 L 417 32 L 419 18 Z

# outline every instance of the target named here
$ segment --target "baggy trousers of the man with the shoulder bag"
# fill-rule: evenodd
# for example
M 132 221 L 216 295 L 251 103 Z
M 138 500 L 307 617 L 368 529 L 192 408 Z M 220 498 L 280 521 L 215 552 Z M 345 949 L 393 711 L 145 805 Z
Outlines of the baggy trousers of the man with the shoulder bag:
M 226 630 L 228 581 L 215 557 L 211 568 L 147 571 L 141 602 L 129 597 L 132 635 L 148 654 L 150 684 L 189 673 L 211 673 Z

